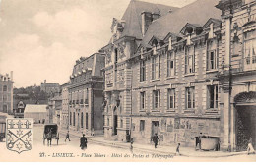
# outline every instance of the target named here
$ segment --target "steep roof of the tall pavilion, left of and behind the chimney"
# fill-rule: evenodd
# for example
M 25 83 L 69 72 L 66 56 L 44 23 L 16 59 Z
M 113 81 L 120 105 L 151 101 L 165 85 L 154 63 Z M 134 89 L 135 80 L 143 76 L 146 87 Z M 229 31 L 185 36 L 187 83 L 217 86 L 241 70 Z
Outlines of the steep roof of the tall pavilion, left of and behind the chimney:
M 161 17 L 169 13 L 169 11 L 175 11 L 178 8 L 165 6 L 160 4 L 152 4 L 148 2 L 142 2 L 137 0 L 131 0 L 128 8 L 126 9 L 121 20 L 125 21 L 125 27 L 120 37 L 132 36 L 137 39 L 142 39 L 142 12 L 151 12 L 159 14 Z

